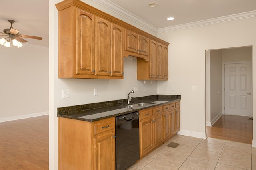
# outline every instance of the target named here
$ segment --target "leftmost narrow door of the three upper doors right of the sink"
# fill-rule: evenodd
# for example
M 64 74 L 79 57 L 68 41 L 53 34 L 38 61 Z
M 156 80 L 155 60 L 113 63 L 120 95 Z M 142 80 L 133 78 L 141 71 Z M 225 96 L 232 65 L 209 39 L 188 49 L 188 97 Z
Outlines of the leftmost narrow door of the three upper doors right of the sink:
M 156 63 L 157 63 L 157 43 L 150 40 L 150 78 L 156 78 Z

